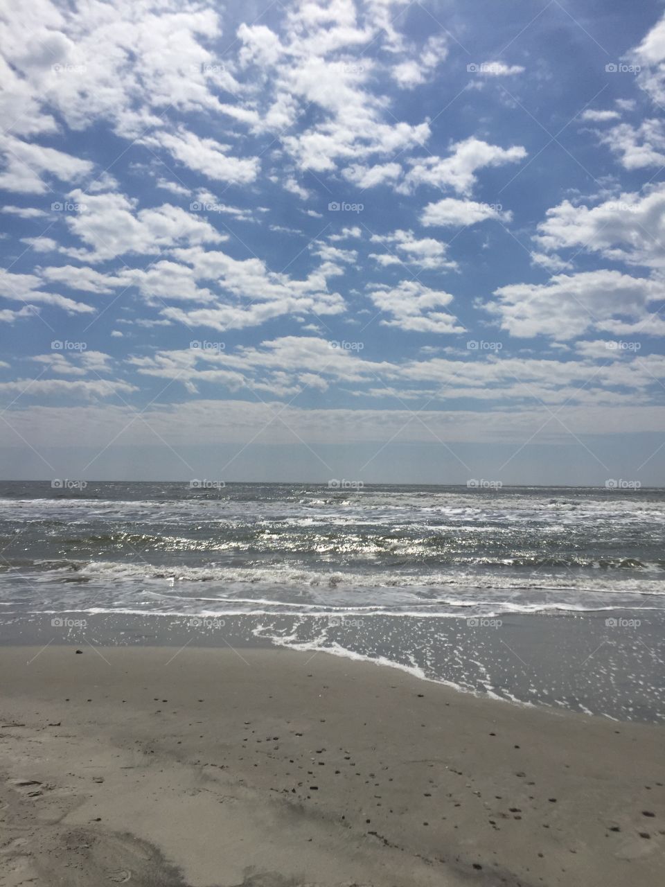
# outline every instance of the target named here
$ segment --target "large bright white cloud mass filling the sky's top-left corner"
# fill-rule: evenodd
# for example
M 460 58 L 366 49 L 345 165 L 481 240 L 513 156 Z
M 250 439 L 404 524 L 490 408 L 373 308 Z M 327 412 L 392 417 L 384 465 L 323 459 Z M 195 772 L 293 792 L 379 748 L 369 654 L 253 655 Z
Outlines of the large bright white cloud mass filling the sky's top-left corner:
M 203 45 L 220 34 L 214 9 L 166 0 L 113 0 L 66 11 L 49 0 L 15 6 L 0 23 L 10 86 L 7 112 L 27 134 L 55 130 L 51 108 L 73 130 L 103 120 L 122 137 L 160 128 L 160 114 L 220 108 L 218 90 L 239 90 Z M 13 81 L 13 82 L 12 82 Z

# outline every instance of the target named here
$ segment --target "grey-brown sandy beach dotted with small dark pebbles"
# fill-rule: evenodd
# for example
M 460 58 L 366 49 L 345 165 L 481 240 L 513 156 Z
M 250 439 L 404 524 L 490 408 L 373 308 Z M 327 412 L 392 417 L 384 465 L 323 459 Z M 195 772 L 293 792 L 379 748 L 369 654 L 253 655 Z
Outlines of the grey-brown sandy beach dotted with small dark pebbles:
M 2 887 L 665 883 L 661 727 L 325 654 L 82 650 L 0 649 Z

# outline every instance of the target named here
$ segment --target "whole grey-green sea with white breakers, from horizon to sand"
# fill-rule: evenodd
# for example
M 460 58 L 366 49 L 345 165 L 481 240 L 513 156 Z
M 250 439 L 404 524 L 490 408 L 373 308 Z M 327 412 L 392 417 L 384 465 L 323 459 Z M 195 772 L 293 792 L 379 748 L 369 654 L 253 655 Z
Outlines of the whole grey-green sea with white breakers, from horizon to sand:
M 664 611 L 662 490 L 0 483 L 0 641 L 270 642 L 657 721 Z

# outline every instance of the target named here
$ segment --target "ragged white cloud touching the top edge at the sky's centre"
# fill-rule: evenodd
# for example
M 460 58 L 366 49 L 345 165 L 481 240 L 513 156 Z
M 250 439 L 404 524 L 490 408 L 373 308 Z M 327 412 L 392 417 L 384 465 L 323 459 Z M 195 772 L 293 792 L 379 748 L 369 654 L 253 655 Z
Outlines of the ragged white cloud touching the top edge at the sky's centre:
M 376 2 L 363 8 L 348 0 L 299 4 L 287 12 L 281 35 L 264 25 L 239 28 L 240 62 L 258 69 L 264 84 L 255 126 L 276 132 L 300 169 L 332 171 L 350 160 L 366 164 L 373 155 L 421 145 L 429 137 L 426 122 L 387 122 L 386 97 L 366 88 L 375 62 L 356 54 L 379 37 L 401 49 L 385 12 Z M 440 39 L 427 43 L 428 69 L 441 56 Z M 415 75 L 410 70 L 403 76 Z M 312 107 L 317 122 L 293 132 L 293 124 L 311 115 Z

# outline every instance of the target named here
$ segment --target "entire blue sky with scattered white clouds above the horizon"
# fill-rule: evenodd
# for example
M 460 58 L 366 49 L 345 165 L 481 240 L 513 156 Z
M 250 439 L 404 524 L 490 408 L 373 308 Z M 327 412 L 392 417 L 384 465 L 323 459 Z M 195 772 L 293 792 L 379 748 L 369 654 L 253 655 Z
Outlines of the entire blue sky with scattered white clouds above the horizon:
M 0 11 L 0 476 L 665 483 L 665 7 Z

